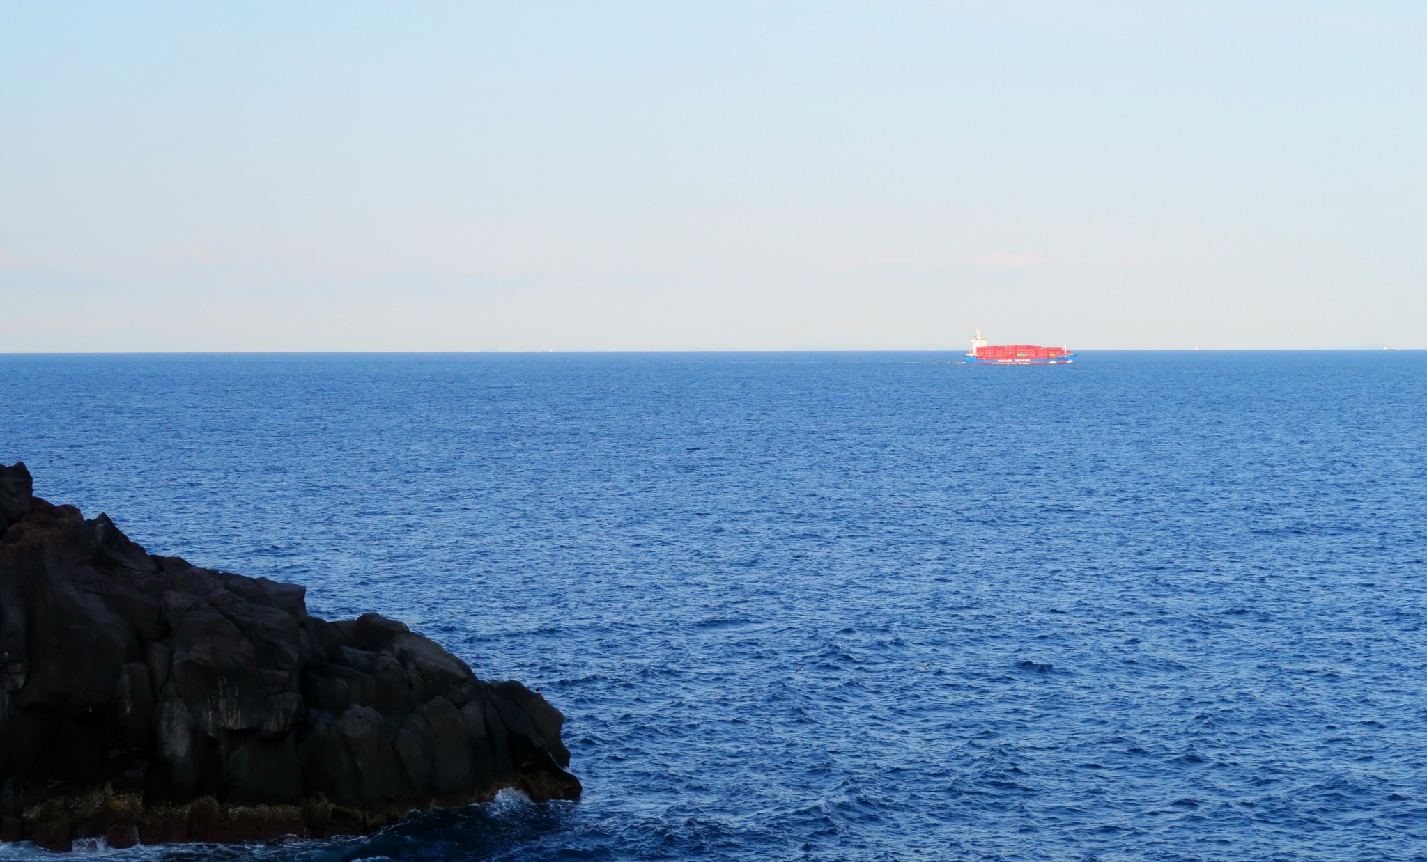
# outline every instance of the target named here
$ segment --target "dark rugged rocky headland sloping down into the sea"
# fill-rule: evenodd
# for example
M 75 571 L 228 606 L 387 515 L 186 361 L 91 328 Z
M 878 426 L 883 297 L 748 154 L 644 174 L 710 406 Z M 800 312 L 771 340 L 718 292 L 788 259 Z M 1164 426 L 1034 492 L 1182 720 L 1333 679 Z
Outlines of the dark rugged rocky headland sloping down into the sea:
M 564 716 L 375 614 L 150 555 L 0 465 L 0 839 L 68 849 L 375 829 L 577 799 Z

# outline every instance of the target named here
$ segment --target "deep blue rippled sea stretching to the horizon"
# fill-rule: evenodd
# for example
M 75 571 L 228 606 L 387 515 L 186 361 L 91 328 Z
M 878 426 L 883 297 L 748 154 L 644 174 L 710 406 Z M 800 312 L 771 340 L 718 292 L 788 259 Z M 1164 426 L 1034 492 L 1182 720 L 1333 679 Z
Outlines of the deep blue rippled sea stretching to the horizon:
M 0 357 L 40 495 L 538 686 L 585 784 L 114 853 L 1427 859 L 1427 353 L 955 358 Z

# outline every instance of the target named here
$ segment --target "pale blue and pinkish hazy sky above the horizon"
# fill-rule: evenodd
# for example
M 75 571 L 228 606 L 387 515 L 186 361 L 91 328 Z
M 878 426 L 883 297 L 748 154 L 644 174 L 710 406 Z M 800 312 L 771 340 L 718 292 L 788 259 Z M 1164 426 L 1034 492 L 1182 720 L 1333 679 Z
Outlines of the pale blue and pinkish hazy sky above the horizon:
M 0 0 L 0 353 L 1427 348 L 1427 3 Z

